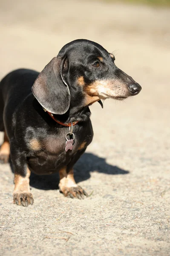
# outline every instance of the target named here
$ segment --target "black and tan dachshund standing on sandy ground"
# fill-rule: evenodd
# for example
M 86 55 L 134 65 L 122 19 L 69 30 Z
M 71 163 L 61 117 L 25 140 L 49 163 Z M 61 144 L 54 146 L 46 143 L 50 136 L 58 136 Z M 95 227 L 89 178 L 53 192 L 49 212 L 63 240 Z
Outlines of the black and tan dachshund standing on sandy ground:
M 75 183 L 73 166 L 92 141 L 89 105 L 122 100 L 141 90 L 114 61 L 101 45 L 80 39 L 66 44 L 41 73 L 20 69 L 2 79 L 0 131 L 5 136 L 0 160 L 6 163 L 11 155 L 14 204 L 33 204 L 31 171 L 59 172 L 65 196 L 87 196 Z

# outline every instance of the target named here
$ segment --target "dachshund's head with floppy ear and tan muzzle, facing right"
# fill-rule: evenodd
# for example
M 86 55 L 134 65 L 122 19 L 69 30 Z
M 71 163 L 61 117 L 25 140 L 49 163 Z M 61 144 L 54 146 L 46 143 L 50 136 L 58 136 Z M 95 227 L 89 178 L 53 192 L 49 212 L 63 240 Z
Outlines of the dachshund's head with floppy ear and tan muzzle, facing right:
M 114 61 L 114 55 L 95 42 L 72 41 L 42 70 L 32 92 L 43 108 L 55 114 L 100 99 L 122 100 L 138 94 L 141 86 Z

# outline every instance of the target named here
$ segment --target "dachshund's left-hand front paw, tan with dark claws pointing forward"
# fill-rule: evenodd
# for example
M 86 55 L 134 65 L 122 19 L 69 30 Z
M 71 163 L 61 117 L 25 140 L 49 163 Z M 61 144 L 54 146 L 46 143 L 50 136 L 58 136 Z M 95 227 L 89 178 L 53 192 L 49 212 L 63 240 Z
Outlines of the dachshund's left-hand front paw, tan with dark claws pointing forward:
M 27 207 L 29 204 L 33 204 L 34 203 L 34 199 L 31 193 L 15 193 L 13 195 L 14 197 L 14 204 L 17 205 L 22 205 L 24 207 Z

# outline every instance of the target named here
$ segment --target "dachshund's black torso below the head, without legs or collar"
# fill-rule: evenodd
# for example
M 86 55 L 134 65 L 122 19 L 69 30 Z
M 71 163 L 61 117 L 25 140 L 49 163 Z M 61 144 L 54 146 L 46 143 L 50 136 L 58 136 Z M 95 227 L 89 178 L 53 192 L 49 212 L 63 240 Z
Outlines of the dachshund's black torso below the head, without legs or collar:
M 56 123 L 43 111 L 33 96 L 31 87 L 37 76 L 38 73 L 32 70 L 16 70 L 6 76 L 5 81 L 8 80 L 8 84 L 3 86 L 6 91 L 4 125 L 10 138 L 11 154 L 14 150 L 14 154 L 11 155 L 12 162 L 20 158 L 16 153 L 21 154 L 22 157 L 24 154 L 29 168 L 38 175 L 44 175 L 59 172 L 64 166 L 69 166 L 71 169 L 76 162 L 75 157 L 79 158 L 81 151 L 84 151 L 92 141 L 93 133 L 90 119 L 87 118 L 90 113 L 87 109 L 83 114 L 84 119 L 87 120 L 77 118 L 79 122 L 73 128 L 75 143 L 72 151 L 66 154 L 65 137 L 69 127 Z M 16 83 L 14 83 L 15 79 Z M 25 172 L 26 167 L 24 169 L 21 165 L 20 174 L 24 176 Z

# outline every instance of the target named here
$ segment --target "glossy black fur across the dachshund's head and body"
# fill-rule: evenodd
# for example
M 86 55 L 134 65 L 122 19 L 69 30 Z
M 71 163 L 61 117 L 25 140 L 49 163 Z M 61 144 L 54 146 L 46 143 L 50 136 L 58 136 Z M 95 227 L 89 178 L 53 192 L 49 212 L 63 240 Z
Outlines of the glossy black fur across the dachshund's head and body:
M 95 67 L 96 61 L 100 62 L 99 67 Z M 80 76 L 84 78 L 84 86 L 77 83 Z M 93 137 L 85 90 L 94 81 L 115 78 L 127 86 L 135 84 L 138 92 L 141 90 L 130 76 L 115 66 L 107 50 L 83 39 L 66 44 L 40 74 L 20 69 L 3 78 L 0 82 L 0 131 L 6 130 L 9 137 L 14 172 L 25 177 L 27 164 L 36 174 L 58 172 L 63 166 L 69 171 Z M 130 95 L 127 90 L 127 94 L 119 98 Z M 69 128 L 56 123 L 40 104 L 55 113 L 55 118 L 61 122 L 79 121 L 73 130 L 72 151 L 65 151 Z M 38 150 L 30 146 L 34 139 L 40 144 Z M 84 148 L 78 149 L 83 142 Z

